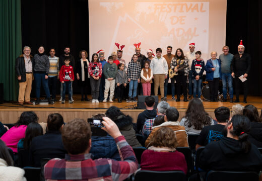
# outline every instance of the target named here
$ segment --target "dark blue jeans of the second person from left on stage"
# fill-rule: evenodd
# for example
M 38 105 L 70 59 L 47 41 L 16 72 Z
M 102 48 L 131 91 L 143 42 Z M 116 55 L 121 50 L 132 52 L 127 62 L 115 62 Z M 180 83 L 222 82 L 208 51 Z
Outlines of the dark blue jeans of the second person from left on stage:
M 44 87 L 44 92 L 46 94 L 46 98 L 50 98 L 50 91 L 48 87 L 48 79 L 45 79 L 45 73 L 34 73 L 34 78 L 35 78 L 35 93 L 36 93 L 36 98 L 40 98 L 40 90 L 41 90 L 41 82 Z

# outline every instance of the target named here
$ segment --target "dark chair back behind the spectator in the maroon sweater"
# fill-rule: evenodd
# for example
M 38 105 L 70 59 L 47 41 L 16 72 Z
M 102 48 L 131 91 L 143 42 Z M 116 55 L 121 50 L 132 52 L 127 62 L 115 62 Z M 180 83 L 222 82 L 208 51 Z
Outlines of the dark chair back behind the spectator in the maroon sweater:
M 140 170 L 135 175 L 135 181 L 185 181 L 186 176 L 183 171 L 151 171 L 151 170 Z

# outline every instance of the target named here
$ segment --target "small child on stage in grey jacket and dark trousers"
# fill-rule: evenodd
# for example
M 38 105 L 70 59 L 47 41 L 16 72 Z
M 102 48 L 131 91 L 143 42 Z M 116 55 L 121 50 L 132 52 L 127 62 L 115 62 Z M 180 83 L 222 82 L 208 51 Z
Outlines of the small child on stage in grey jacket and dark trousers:
M 125 87 L 127 84 L 127 74 L 125 73 L 123 63 L 120 63 L 118 65 L 118 70 L 115 77 L 115 83 L 116 83 L 116 94 L 118 98 L 118 103 L 121 103 L 123 93 L 125 93 Z

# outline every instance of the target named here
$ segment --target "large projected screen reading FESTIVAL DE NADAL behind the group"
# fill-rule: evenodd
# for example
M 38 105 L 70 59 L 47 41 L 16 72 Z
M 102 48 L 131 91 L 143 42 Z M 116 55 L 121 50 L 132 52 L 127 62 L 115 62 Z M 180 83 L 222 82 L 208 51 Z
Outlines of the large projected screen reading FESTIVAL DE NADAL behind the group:
M 115 42 L 125 45 L 123 59 L 128 63 L 141 42 L 141 53 L 160 47 L 188 52 L 189 43 L 202 52 L 206 61 L 211 51 L 222 53 L 226 35 L 226 0 L 210 1 L 103 1 L 89 0 L 90 54 L 117 51 Z

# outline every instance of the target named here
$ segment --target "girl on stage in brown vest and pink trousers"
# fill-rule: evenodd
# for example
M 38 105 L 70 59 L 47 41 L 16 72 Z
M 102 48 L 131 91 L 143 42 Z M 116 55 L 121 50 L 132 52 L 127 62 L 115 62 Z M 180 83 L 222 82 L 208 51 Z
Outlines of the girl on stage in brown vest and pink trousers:
M 145 68 L 142 68 L 141 71 L 141 83 L 143 86 L 143 95 L 151 95 L 151 83 L 153 78 L 153 72 L 149 68 L 149 61 L 145 61 Z

